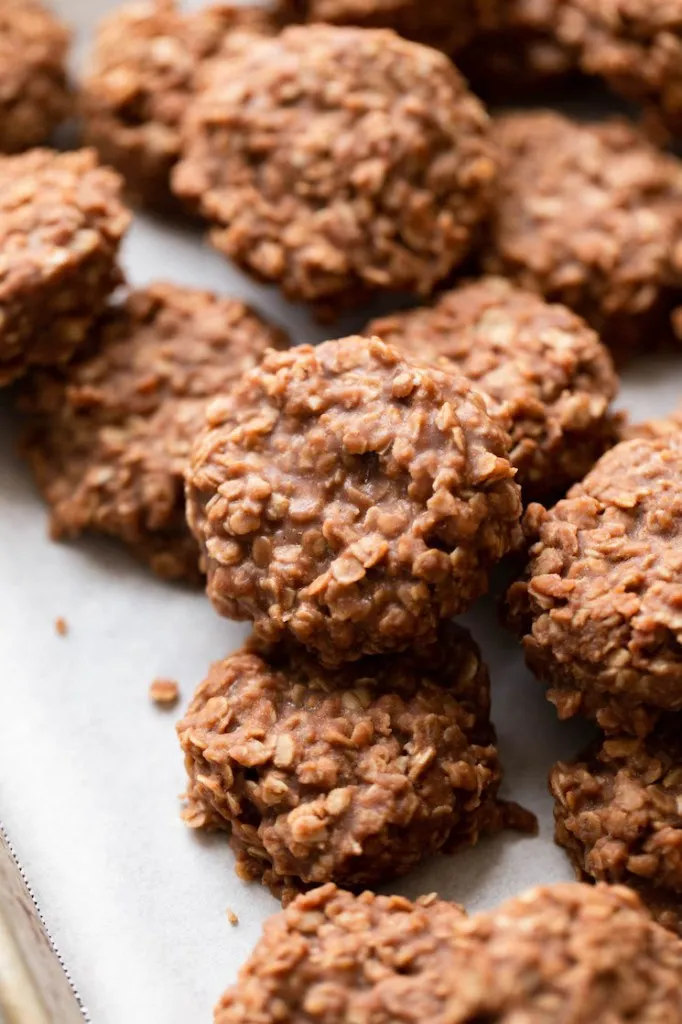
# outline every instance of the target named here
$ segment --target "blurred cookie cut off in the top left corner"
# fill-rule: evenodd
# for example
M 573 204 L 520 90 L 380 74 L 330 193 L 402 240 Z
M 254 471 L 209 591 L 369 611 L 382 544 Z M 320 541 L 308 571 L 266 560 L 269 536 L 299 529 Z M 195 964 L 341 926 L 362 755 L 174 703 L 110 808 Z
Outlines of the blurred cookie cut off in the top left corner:
M 0 153 L 39 145 L 71 113 L 70 41 L 38 0 L 0 0 Z

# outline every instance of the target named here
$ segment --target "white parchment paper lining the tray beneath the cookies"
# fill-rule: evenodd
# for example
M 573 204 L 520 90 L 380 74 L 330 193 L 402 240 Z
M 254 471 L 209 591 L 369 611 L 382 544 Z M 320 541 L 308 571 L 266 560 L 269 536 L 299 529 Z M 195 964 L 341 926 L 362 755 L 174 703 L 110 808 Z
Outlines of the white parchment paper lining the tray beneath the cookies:
M 116 4 L 55 6 L 81 30 L 82 51 L 86 30 Z M 239 295 L 299 341 L 324 337 L 303 310 L 250 283 L 199 234 L 138 217 L 124 259 L 135 285 L 163 278 Z M 660 415 L 681 389 L 682 356 L 646 358 L 629 372 L 621 403 Z M 154 707 L 147 688 L 157 676 L 177 679 L 184 705 L 246 629 L 220 621 L 202 594 L 157 582 L 115 544 L 50 543 L 7 406 L 2 396 L 0 821 L 93 1022 L 209 1024 L 278 904 L 236 878 L 223 838 L 181 823 L 179 712 Z M 66 638 L 55 634 L 57 616 L 69 622 Z M 437 890 L 476 909 L 571 877 L 552 843 L 546 776 L 556 758 L 579 750 L 585 727 L 556 721 L 494 601 L 468 622 L 493 674 L 505 792 L 536 811 L 541 834 L 487 840 L 386 888 L 413 897 Z

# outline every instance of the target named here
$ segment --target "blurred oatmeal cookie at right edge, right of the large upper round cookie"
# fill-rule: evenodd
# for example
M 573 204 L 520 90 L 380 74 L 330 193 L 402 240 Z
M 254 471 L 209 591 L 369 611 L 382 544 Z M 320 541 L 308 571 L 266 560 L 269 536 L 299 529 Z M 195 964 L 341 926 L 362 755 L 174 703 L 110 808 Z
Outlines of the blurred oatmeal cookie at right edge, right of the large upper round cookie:
M 483 264 L 562 302 L 619 353 L 670 332 L 682 286 L 682 163 L 631 125 L 498 119 L 500 195 Z

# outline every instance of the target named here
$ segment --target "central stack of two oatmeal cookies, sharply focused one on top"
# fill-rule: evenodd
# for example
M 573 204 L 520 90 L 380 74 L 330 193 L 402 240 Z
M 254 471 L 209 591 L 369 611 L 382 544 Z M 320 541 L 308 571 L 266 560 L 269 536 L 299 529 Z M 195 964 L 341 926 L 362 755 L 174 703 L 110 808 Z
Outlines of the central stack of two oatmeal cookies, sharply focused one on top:
M 517 538 L 510 438 L 450 369 L 378 338 L 269 351 L 208 409 L 188 521 L 253 623 L 178 726 L 186 818 L 290 898 L 403 873 L 531 816 L 497 799 L 489 681 L 449 620 Z

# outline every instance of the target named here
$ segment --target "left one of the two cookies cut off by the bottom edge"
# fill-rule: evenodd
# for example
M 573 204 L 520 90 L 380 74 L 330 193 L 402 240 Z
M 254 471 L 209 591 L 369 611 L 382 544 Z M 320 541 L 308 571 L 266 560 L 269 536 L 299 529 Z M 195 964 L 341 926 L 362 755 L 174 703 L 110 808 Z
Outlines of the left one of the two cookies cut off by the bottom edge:
M 396 1015 L 398 998 L 403 1011 L 430 1009 L 424 999 L 446 977 L 452 930 L 463 916 L 434 896 L 411 903 L 333 885 L 304 893 L 265 923 L 237 984 L 216 1007 L 215 1024 L 412 1022 Z

